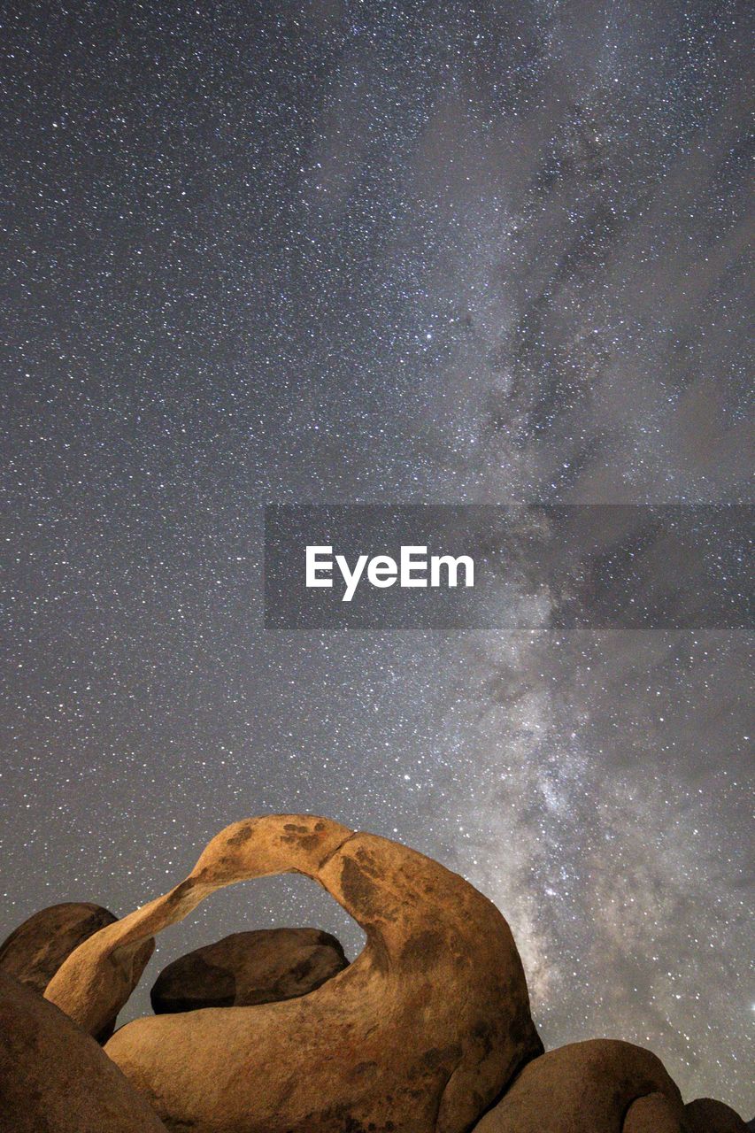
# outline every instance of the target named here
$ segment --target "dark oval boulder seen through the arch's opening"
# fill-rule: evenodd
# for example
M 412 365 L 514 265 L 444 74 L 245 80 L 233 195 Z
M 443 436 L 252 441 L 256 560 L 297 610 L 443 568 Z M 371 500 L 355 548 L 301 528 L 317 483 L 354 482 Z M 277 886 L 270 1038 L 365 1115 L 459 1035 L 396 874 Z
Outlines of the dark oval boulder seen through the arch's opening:
M 156 1015 L 198 1007 L 251 1007 L 308 995 L 348 961 L 316 928 L 234 932 L 168 964 L 150 993 Z

